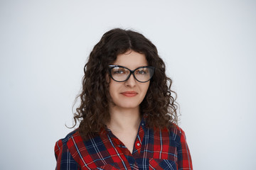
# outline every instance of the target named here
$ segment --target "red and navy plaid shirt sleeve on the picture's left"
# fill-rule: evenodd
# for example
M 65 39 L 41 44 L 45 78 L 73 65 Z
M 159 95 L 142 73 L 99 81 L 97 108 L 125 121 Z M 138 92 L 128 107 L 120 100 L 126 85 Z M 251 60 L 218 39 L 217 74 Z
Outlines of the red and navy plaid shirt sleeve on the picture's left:
M 57 161 L 55 170 L 80 170 L 80 166 L 73 159 L 72 155 L 68 150 L 66 142 L 63 140 L 58 140 L 54 148 L 55 158 Z

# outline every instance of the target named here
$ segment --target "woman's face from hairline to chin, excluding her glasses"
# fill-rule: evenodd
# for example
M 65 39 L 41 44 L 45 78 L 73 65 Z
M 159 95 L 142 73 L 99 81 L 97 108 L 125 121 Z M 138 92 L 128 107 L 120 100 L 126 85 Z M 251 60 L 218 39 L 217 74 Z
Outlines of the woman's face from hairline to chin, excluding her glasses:
M 129 50 L 124 54 L 117 55 L 117 60 L 112 63 L 134 70 L 138 67 L 147 66 L 146 57 L 143 54 Z M 114 102 L 114 107 L 137 108 L 146 96 L 149 89 L 149 81 L 141 83 L 134 79 L 131 74 L 124 82 L 117 82 L 110 79 L 110 96 Z

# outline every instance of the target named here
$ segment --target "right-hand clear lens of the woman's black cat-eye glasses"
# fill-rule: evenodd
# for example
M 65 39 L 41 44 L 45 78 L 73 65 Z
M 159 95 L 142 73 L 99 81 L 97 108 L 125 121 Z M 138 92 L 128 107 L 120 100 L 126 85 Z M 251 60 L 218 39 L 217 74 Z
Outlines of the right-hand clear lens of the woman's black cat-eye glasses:
M 134 76 L 138 81 L 146 82 L 151 79 L 154 74 L 154 69 L 151 67 L 142 67 L 134 71 Z

